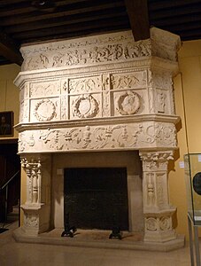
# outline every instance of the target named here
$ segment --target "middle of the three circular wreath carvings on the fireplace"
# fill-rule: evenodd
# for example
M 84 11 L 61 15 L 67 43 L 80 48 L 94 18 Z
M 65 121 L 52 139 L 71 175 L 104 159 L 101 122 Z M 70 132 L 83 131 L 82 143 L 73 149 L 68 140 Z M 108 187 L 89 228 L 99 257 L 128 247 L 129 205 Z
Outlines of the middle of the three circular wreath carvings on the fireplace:
M 73 114 L 80 118 L 91 118 L 97 115 L 99 108 L 95 98 L 91 95 L 77 98 L 73 104 Z

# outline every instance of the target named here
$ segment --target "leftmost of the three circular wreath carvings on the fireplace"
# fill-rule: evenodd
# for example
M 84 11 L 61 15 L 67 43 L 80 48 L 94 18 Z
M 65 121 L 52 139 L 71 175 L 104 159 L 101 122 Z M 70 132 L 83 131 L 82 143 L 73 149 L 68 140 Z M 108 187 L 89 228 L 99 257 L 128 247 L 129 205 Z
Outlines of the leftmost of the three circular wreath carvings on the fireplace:
M 38 121 L 50 121 L 56 114 L 56 107 L 50 99 L 43 99 L 35 106 L 35 117 Z

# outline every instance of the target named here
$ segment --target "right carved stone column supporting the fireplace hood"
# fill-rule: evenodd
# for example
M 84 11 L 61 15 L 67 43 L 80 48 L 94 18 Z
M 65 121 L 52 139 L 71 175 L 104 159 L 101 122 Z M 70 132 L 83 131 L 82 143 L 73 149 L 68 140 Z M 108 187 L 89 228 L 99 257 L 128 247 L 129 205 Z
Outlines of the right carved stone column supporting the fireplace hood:
M 169 205 L 167 164 L 172 151 L 140 153 L 143 160 L 144 241 L 165 242 L 176 238 Z

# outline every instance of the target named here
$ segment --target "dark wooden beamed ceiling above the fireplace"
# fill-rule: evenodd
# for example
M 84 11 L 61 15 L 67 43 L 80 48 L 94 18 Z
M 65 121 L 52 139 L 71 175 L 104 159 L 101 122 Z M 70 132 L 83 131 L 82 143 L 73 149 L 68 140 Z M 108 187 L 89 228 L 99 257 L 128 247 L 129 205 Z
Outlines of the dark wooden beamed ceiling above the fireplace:
M 201 39 L 201 0 L 0 0 L 0 64 L 21 64 L 20 45 L 151 26 Z

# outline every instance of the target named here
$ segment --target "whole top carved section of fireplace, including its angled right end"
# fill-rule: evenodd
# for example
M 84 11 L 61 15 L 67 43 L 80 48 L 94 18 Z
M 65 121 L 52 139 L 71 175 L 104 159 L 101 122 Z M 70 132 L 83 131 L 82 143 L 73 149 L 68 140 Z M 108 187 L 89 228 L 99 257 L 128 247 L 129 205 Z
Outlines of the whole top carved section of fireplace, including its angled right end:
M 42 43 L 21 48 L 24 58 L 22 71 L 95 66 L 111 62 L 156 56 L 176 61 L 180 46 L 177 35 L 156 27 L 151 28 L 151 39 L 135 42 L 131 31 L 97 35 L 75 40 Z

